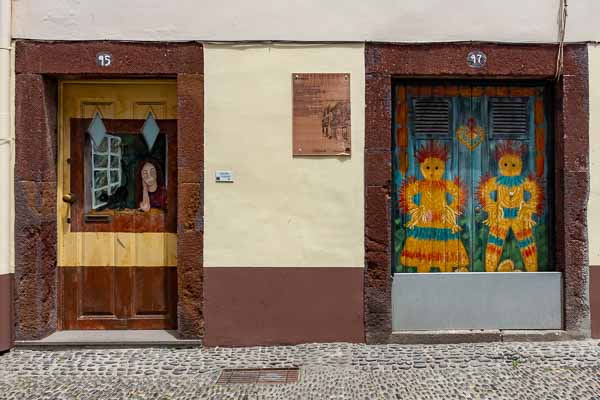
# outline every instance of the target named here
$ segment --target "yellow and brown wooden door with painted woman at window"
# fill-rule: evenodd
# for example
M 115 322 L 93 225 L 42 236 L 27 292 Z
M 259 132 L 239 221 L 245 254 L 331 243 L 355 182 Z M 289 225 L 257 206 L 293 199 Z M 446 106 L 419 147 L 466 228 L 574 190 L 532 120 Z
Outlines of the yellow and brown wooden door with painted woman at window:
M 61 329 L 176 328 L 174 81 L 60 85 Z

